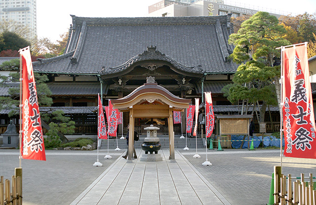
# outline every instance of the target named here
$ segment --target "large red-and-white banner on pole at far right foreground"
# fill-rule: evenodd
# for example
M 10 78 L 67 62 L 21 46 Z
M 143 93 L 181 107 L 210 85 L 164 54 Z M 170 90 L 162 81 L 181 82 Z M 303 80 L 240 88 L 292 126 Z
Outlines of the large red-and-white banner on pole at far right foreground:
M 285 157 L 316 159 L 315 118 L 307 48 L 282 49 Z

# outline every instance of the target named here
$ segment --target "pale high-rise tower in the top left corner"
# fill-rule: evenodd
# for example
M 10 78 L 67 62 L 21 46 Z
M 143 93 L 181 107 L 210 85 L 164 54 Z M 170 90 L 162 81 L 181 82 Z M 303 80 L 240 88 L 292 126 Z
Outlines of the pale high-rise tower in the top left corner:
M 0 0 L 0 20 L 16 21 L 30 28 L 31 38 L 37 36 L 36 0 Z

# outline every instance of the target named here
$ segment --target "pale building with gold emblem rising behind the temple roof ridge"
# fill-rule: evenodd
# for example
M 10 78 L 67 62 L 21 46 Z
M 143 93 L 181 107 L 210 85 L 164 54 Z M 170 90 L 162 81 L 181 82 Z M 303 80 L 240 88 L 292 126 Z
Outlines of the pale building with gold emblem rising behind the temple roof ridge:
M 250 9 L 225 3 L 224 0 L 162 0 L 148 7 L 150 16 L 216 16 L 232 13 L 232 17 L 253 15 L 256 12 L 268 11 L 267 9 Z M 230 5 L 231 4 L 231 5 Z M 268 11 L 269 12 L 269 11 Z M 271 13 L 279 18 L 285 13 Z

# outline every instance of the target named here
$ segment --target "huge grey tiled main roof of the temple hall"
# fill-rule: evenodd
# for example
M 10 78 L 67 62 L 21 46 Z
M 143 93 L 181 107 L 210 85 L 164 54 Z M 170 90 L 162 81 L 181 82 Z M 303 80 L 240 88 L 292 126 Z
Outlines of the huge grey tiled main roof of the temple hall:
M 192 73 L 235 73 L 227 60 L 230 16 L 84 18 L 73 16 L 66 53 L 35 62 L 36 72 L 111 74 L 157 46 L 165 59 Z M 161 56 L 160 56 L 161 57 Z M 145 58 L 143 58 L 145 59 Z M 133 61 L 134 60 L 134 61 Z M 162 59 L 163 60 L 163 59 Z M 127 63 L 129 62 L 129 63 Z M 127 63 L 127 64 L 126 64 Z M 180 66 L 181 65 L 181 66 Z

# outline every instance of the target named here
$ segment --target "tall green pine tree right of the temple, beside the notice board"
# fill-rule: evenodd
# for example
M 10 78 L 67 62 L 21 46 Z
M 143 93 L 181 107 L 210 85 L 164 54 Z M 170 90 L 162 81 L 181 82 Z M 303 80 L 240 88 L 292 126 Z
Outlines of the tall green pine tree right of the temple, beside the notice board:
M 226 96 L 232 103 L 239 100 L 252 105 L 262 102 L 260 122 L 264 122 L 267 105 L 277 104 L 273 83 L 280 71 L 274 62 L 280 56 L 276 47 L 290 44 L 282 38 L 285 32 L 275 16 L 259 11 L 229 38 L 229 43 L 235 45 L 230 57 L 240 66 L 234 75 L 234 84 L 225 88 L 229 90 Z

